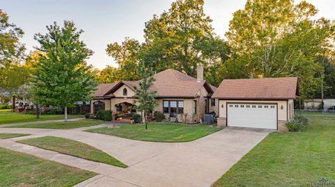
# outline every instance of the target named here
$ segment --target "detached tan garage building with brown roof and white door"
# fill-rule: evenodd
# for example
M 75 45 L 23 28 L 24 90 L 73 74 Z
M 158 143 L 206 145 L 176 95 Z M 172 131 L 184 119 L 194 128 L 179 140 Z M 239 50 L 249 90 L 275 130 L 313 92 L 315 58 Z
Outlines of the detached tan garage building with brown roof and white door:
M 287 131 L 297 83 L 297 77 L 223 80 L 212 95 L 218 99 L 218 125 Z

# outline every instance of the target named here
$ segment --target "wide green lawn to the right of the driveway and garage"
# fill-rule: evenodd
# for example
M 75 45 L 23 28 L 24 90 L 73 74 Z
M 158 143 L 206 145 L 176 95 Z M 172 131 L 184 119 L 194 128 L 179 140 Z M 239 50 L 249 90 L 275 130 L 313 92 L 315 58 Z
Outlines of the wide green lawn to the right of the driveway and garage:
M 335 115 L 311 113 L 301 133 L 271 133 L 235 164 L 217 186 L 311 186 L 335 182 Z

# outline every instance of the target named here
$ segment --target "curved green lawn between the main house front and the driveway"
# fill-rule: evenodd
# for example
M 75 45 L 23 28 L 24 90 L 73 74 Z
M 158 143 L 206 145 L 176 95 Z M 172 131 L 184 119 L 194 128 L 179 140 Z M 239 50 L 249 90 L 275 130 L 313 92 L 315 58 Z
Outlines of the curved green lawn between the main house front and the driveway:
M 132 140 L 150 142 L 178 143 L 189 142 L 203 136 L 207 136 L 221 128 L 211 125 L 181 125 L 181 124 L 148 124 L 146 130 L 144 125 L 120 125 L 119 128 L 98 128 L 89 129 L 88 132 L 103 133 Z

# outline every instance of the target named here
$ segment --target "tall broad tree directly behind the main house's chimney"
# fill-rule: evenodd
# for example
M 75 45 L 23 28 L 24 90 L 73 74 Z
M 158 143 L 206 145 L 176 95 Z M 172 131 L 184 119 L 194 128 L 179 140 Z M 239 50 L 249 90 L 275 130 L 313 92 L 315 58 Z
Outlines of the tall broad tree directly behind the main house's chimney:
M 216 37 L 204 1 L 177 0 L 168 11 L 145 24 L 142 61 L 156 71 L 173 68 L 196 76 L 196 67 L 209 67 L 227 58 L 228 47 Z

